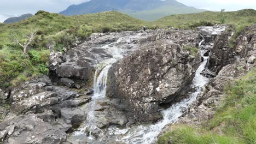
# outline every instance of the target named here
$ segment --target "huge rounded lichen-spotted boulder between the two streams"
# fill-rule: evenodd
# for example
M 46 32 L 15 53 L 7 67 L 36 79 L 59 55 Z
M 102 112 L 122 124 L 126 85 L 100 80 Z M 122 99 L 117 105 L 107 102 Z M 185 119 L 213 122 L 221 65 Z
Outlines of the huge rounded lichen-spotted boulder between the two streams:
M 188 86 L 201 57 L 181 45 L 198 44 L 198 33 L 158 31 L 150 44 L 143 45 L 109 70 L 107 96 L 120 99 L 120 105 L 138 122 L 159 119 L 159 104 L 170 103 Z M 186 43 L 187 42 L 187 43 Z

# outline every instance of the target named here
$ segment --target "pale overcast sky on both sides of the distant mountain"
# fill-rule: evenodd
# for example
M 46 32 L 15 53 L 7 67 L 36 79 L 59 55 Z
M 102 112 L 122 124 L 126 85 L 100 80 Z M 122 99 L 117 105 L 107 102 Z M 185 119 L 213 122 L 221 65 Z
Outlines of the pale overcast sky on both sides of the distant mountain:
M 89 0 L 0 0 L 0 22 L 8 17 L 21 14 L 34 14 L 38 10 L 59 13 L 71 4 L 79 4 Z M 120 0 L 122 1 L 122 0 Z M 234 11 L 246 8 L 256 9 L 256 0 L 177 0 L 188 6 L 207 10 Z

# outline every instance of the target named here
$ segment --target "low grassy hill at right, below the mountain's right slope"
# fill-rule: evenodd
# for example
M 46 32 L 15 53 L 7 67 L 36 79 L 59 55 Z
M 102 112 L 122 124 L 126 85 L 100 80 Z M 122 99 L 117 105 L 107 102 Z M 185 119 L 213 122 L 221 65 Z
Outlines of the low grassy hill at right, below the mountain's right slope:
M 234 26 L 238 25 L 252 25 L 256 23 L 256 10 L 243 9 L 238 11 L 224 12 L 224 23 Z M 210 22 L 212 24 L 220 24 L 220 13 L 205 11 L 196 14 L 181 14 L 163 17 L 154 21 L 152 24 L 159 27 L 174 27 L 174 28 L 191 28 L 193 26 L 200 26 L 203 22 Z

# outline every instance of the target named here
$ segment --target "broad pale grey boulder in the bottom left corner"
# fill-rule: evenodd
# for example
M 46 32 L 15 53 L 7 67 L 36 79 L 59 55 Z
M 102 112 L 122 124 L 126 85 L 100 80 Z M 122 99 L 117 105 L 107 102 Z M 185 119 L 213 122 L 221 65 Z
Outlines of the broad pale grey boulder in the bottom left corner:
M 15 129 L 14 129 L 15 128 Z M 44 122 L 36 115 L 19 116 L 11 121 L 1 123 L 0 131 L 4 133 L 3 143 L 61 143 L 66 141 L 65 131 Z M 2 132 L 0 132 L 2 134 Z M 0 135 L 1 136 L 1 135 Z M 1 138 L 1 137 L 0 137 Z

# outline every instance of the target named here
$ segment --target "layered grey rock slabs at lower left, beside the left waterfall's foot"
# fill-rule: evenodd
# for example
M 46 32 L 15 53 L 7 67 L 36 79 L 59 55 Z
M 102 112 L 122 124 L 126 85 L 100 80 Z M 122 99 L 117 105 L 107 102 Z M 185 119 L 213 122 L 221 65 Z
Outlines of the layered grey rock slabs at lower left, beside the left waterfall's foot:
M 4 144 L 65 142 L 66 132 L 86 118 L 78 106 L 90 100 L 81 92 L 54 86 L 45 75 L 13 89 L 9 95 L 11 111 L 3 115 L 0 123 Z

